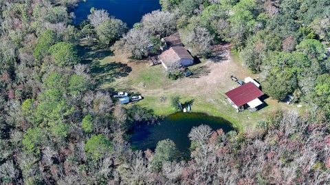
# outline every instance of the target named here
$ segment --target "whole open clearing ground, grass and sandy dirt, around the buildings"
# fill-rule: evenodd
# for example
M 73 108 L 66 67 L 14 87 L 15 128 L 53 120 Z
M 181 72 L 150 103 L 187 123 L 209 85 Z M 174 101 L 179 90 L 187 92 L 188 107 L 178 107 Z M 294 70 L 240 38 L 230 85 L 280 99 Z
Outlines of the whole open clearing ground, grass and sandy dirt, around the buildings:
M 93 52 L 94 54 L 95 52 Z M 230 53 L 230 52 L 229 52 Z M 296 105 L 286 105 L 267 98 L 267 106 L 251 113 L 245 110 L 236 113 L 225 100 L 225 92 L 237 87 L 230 80 L 234 74 L 244 79 L 246 76 L 256 78 L 244 69 L 237 54 L 228 54 L 221 61 L 201 61 L 190 68 L 193 75 L 189 78 L 170 80 L 162 65 L 148 66 L 147 61 L 129 61 L 125 56 L 104 56 L 90 61 L 91 74 L 98 81 L 100 89 L 129 91 L 144 96 L 136 105 L 153 109 L 156 115 L 174 113 L 171 99 L 181 97 L 181 102 L 192 101 L 192 111 L 220 116 L 232 122 L 241 131 L 253 130 L 259 120 L 264 120 L 268 113 L 275 109 L 298 109 Z

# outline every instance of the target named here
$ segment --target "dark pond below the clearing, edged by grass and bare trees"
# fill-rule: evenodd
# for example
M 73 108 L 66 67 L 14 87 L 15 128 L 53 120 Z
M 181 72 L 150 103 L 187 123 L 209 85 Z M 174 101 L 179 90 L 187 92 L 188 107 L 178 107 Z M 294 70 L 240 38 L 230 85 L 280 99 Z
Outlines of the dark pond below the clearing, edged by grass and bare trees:
M 136 126 L 131 135 L 131 146 L 140 150 L 155 149 L 157 142 L 168 138 L 175 142 L 180 151 L 188 151 L 190 147 L 188 133 L 192 127 L 198 127 L 200 124 L 208 124 L 214 131 L 234 130 L 230 122 L 222 118 L 204 113 L 180 112 L 166 117 L 160 124 Z

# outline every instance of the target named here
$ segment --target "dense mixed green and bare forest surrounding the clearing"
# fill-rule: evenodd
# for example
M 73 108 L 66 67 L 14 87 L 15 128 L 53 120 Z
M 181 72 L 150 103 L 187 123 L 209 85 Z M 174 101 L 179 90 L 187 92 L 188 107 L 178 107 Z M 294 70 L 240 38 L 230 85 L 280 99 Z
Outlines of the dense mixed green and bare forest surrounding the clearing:
M 0 184 L 329 184 L 330 1 L 160 0 L 129 28 L 79 0 L 0 0 Z M 131 149 L 134 124 L 157 122 L 98 89 L 79 44 L 157 54 L 179 32 L 193 56 L 230 43 L 265 94 L 292 94 L 309 111 L 278 109 L 253 132 L 194 127 L 184 157 L 171 140 Z

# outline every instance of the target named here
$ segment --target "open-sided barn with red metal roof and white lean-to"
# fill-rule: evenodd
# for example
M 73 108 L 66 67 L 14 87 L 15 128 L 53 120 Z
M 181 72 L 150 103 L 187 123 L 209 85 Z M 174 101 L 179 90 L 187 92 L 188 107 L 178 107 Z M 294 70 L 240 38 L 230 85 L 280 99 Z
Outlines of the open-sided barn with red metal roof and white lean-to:
M 250 111 L 256 111 L 257 107 L 263 104 L 263 102 L 259 100 L 259 98 L 263 96 L 263 91 L 252 82 L 232 89 L 226 92 L 225 95 L 237 112 L 247 108 L 250 109 Z

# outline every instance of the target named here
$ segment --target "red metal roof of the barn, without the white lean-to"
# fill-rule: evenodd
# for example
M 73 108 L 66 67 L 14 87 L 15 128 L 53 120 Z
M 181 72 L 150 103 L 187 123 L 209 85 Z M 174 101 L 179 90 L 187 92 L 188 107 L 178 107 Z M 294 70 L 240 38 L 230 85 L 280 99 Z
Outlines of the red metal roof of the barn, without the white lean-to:
M 250 82 L 226 92 L 225 95 L 239 107 L 256 98 L 259 98 L 260 96 L 263 96 L 263 91 Z

